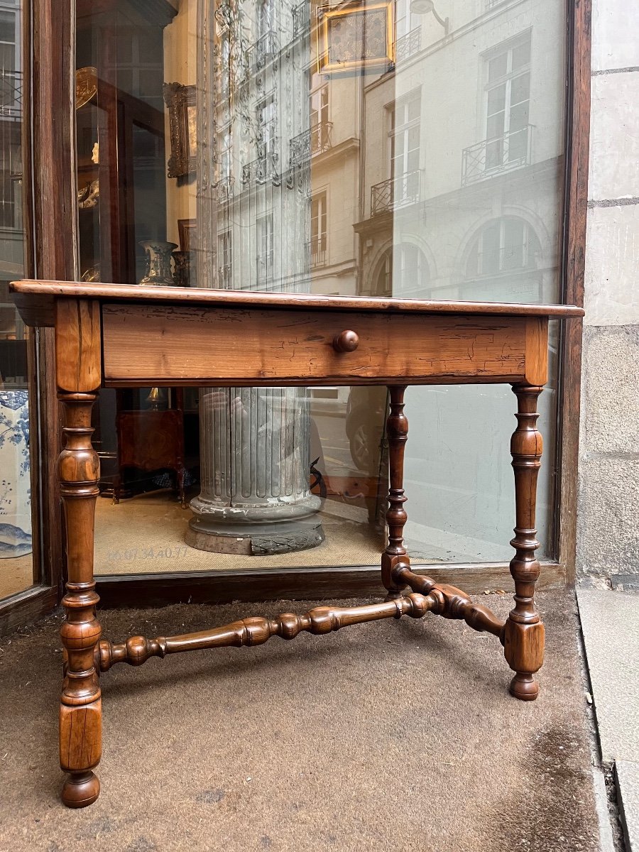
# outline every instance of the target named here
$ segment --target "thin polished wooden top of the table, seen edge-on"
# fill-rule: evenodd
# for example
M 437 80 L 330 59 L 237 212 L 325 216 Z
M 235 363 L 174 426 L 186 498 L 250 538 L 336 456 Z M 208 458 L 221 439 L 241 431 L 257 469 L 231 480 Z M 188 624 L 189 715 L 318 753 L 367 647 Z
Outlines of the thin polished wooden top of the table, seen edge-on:
M 57 298 L 91 299 L 104 303 L 170 304 L 179 308 L 294 309 L 354 311 L 360 314 L 484 314 L 528 317 L 581 317 L 575 305 L 528 305 L 509 302 L 440 302 L 433 299 L 325 296 L 314 293 L 155 287 L 81 281 L 12 281 L 9 289 L 27 325 L 55 325 Z

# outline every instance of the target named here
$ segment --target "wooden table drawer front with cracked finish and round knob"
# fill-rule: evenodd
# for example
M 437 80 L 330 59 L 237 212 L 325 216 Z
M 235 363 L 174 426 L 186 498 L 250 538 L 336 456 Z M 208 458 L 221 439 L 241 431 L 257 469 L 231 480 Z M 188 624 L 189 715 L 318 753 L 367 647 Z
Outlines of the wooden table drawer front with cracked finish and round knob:
M 112 386 L 537 383 L 547 320 L 104 304 L 102 334 Z

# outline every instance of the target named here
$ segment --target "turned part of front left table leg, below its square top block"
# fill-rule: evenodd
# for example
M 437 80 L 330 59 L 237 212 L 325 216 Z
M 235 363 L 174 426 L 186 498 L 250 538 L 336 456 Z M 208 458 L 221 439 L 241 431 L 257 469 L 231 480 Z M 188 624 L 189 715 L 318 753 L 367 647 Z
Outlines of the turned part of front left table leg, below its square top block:
M 95 617 L 93 540 L 100 463 L 91 445 L 95 394 L 59 394 L 65 408 L 60 453 L 60 495 L 65 508 L 68 582 L 60 637 L 66 671 L 60 697 L 60 767 L 68 773 L 62 801 L 70 808 L 95 802 L 100 782 L 93 769 L 101 756 L 101 693 L 94 652 L 100 641 Z

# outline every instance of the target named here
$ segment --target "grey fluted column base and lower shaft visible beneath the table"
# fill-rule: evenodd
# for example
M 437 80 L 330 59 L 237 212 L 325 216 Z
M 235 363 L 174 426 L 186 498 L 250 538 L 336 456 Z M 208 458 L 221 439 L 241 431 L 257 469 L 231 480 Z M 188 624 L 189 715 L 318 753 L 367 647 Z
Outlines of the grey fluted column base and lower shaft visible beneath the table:
M 320 544 L 302 394 L 296 388 L 200 391 L 202 491 L 191 501 L 188 544 L 245 554 Z

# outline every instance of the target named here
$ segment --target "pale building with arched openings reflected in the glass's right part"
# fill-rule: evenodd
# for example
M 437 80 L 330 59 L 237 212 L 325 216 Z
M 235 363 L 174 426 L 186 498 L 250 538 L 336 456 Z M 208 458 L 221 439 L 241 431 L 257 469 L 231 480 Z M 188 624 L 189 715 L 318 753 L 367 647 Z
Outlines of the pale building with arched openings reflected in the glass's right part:
M 365 89 L 361 293 L 556 299 L 562 139 L 549 104 L 562 55 L 545 37 L 560 32 L 550 6 L 486 3 L 470 20 L 469 4 L 448 3 L 447 37 L 411 16 L 394 74 Z

